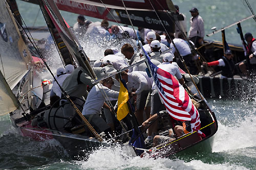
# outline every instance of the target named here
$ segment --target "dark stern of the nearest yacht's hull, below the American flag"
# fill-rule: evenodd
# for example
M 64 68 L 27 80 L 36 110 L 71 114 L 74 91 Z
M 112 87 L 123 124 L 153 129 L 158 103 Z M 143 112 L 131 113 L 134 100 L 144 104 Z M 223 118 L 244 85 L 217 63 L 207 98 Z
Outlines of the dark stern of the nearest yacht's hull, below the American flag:
M 187 83 L 187 85 L 191 89 L 192 93 L 195 94 L 197 92 L 195 86 L 191 82 Z M 200 99 L 200 96 L 196 94 L 196 98 Z M 209 109 L 208 103 L 205 100 L 199 100 L 198 103 L 200 104 L 200 108 L 198 109 L 201 120 L 200 130 L 205 134 L 206 137 L 201 138 L 197 132 L 189 132 L 175 138 L 172 141 L 161 143 L 154 148 L 148 148 L 150 149 L 150 151 L 148 151 L 147 153 L 149 153 L 151 157 L 163 158 L 169 157 L 170 155 L 174 154 L 182 156 L 183 154 L 212 152 L 212 143 L 214 140 L 213 135 L 218 130 L 217 119 L 214 112 Z M 168 136 L 168 131 L 163 131 L 159 134 Z M 200 147 L 200 150 L 198 150 L 198 147 Z

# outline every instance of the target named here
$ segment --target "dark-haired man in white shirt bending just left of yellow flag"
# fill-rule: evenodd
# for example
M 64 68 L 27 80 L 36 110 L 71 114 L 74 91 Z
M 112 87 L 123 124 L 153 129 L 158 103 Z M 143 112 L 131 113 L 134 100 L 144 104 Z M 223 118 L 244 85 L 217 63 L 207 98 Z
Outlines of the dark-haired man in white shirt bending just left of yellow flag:
M 90 124 L 93 124 L 95 130 L 98 133 L 105 132 L 107 136 L 109 136 L 109 133 L 111 133 L 111 128 L 108 124 L 106 124 L 105 120 L 99 116 L 99 113 L 102 107 L 111 110 L 111 108 L 105 104 L 103 91 L 106 93 L 106 95 L 108 95 L 109 98 L 118 98 L 119 92 L 111 90 L 113 84 L 114 81 L 110 77 L 95 85 L 89 92 L 88 98 L 82 110 L 82 114 L 84 117 L 86 117 Z

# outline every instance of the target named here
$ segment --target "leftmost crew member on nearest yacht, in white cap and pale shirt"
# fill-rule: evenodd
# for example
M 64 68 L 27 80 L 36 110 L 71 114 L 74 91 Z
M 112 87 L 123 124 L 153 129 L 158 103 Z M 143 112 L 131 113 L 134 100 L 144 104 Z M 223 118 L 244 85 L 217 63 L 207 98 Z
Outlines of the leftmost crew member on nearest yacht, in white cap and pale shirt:
M 58 81 L 60 86 L 62 86 L 62 83 L 67 78 L 67 76 L 68 75 L 66 73 L 65 68 L 60 67 L 57 69 L 57 76 L 55 78 Z M 61 90 L 56 81 L 53 82 L 52 89 L 50 92 L 50 96 L 54 96 L 54 95 L 57 95 L 57 96 L 59 96 L 59 98 L 61 98 Z

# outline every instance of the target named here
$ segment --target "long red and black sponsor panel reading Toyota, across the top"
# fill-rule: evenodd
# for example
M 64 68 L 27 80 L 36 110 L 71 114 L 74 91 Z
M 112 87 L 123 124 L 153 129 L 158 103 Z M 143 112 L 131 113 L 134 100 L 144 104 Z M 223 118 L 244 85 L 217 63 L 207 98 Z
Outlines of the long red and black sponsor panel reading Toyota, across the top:
M 23 0 L 30 3 L 36 3 L 35 0 Z M 134 0 L 127 0 L 126 3 L 132 3 Z M 106 19 L 109 21 L 115 21 L 115 19 L 120 22 L 124 23 L 125 25 L 131 25 L 129 18 L 125 12 L 125 10 L 120 9 L 110 9 L 110 12 L 115 17 L 115 19 L 110 15 L 110 12 L 106 10 L 104 7 L 94 6 L 90 4 L 81 3 L 82 1 L 77 2 L 76 0 L 54 0 L 59 10 L 68 11 L 72 13 L 77 13 L 85 16 L 91 16 L 99 19 Z M 93 2 L 93 1 L 92 1 Z M 112 4 L 111 1 L 103 1 L 106 4 Z M 120 3 L 121 1 L 116 1 L 116 3 Z M 143 0 L 139 0 L 138 3 L 143 4 Z M 133 3 L 134 5 L 134 3 Z M 136 4 L 137 5 L 137 4 Z M 118 6 L 118 5 L 116 5 Z M 137 6 L 136 6 L 137 8 Z M 174 32 L 174 23 L 172 19 L 169 18 L 173 17 L 176 20 L 184 20 L 182 15 L 177 14 L 168 14 L 166 12 L 158 12 L 160 18 L 163 21 L 164 26 L 166 27 L 167 31 Z M 136 27 L 143 27 L 148 29 L 154 29 L 159 31 L 165 31 L 161 25 L 160 20 L 158 19 L 156 13 L 154 11 L 140 11 L 138 10 L 129 10 L 129 15 L 133 22 L 133 25 Z

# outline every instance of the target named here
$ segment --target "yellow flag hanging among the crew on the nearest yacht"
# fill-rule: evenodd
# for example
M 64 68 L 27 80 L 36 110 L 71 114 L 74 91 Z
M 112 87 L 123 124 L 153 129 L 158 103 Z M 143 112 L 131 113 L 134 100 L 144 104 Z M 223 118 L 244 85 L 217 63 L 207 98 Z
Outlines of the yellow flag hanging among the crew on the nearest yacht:
M 128 113 L 129 108 L 127 106 L 127 101 L 129 100 L 129 94 L 127 88 L 124 87 L 123 82 L 120 81 L 120 90 L 118 95 L 118 101 L 117 101 L 117 119 L 121 120 L 123 119 Z

